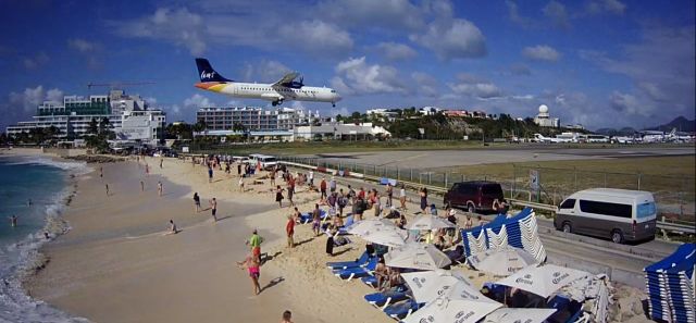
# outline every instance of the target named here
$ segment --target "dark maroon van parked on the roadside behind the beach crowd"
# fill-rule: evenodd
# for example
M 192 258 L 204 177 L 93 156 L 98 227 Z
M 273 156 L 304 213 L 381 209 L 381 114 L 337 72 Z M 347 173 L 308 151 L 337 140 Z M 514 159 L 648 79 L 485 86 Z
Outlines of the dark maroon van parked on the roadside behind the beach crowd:
M 469 212 L 493 211 L 495 200 L 502 201 L 502 188 L 495 182 L 472 181 L 455 183 L 445 194 L 445 206 Z

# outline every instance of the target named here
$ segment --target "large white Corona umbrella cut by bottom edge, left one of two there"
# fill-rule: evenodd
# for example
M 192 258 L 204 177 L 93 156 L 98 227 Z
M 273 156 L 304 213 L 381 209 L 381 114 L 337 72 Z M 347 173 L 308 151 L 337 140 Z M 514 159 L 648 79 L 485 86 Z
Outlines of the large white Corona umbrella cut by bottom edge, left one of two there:
M 469 286 L 457 283 L 440 297 L 403 319 L 402 322 L 474 323 L 502 307 L 501 303 L 490 298 L 478 296 L 480 293 L 472 294 L 469 290 Z

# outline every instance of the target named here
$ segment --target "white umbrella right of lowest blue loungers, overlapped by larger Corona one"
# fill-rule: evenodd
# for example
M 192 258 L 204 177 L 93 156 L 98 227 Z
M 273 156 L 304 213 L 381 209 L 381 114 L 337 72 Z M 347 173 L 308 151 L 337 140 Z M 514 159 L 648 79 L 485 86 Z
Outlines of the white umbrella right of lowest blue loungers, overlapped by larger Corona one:
M 464 274 L 460 272 L 435 270 L 402 273 L 401 277 L 406 284 L 409 285 L 409 289 L 413 294 L 413 299 L 415 299 L 417 302 L 430 302 L 445 295 L 458 284 L 461 285 L 458 288 L 468 290 L 471 295 L 484 297 Z

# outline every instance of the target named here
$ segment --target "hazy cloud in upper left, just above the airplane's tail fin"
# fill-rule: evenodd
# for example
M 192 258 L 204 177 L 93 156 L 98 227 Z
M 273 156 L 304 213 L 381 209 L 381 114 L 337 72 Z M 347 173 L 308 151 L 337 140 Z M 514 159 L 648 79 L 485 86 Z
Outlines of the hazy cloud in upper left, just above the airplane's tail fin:
M 203 18 L 186 8 L 159 8 L 152 15 L 112 24 L 121 36 L 164 40 L 187 48 L 194 55 L 207 48 Z

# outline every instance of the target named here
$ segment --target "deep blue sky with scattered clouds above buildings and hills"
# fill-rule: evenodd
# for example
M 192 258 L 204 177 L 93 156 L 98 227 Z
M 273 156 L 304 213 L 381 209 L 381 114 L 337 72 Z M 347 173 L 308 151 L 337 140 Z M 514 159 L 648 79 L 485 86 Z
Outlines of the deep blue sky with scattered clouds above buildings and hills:
M 127 86 L 195 120 L 208 105 L 271 107 L 194 87 L 194 58 L 227 78 L 298 71 L 335 88 L 322 115 L 434 105 L 561 124 L 643 128 L 695 114 L 695 1 L 0 1 L 0 128 L 44 100 Z M 150 84 L 152 83 L 152 84 Z

